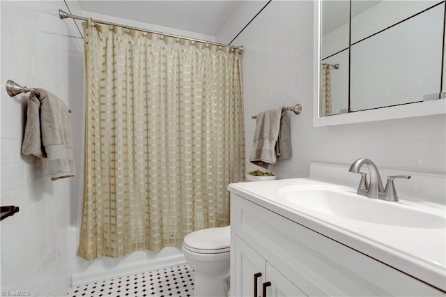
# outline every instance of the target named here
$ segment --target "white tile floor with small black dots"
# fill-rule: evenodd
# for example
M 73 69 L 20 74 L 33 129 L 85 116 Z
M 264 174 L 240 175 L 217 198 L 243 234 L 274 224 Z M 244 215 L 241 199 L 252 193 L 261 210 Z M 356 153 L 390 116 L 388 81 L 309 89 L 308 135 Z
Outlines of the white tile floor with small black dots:
M 184 264 L 159 271 L 125 275 L 84 284 L 70 289 L 66 296 L 189 297 L 193 295 L 193 289 L 194 271 L 190 266 Z

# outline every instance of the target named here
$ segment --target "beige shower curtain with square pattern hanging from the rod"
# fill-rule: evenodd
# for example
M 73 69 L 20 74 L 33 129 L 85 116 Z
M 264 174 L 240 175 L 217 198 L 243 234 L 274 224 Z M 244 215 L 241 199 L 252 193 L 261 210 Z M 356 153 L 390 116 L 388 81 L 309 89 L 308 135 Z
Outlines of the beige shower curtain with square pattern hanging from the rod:
M 122 257 L 229 224 L 245 167 L 240 52 L 84 24 L 85 178 L 78 254 Z

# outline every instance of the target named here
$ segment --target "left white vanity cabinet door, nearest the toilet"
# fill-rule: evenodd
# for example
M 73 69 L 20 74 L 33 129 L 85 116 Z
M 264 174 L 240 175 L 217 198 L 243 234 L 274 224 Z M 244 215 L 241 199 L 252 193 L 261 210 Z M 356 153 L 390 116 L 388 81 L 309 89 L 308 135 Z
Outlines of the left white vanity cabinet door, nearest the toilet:
M 255 252 L 245 241 L 236 236 L 236 296 L 259 297 L 265 282 L 265 259 Z M 260 275 L 258 274 L 260 273 Z M 256 284 L 256 286 L 254 286 Z M 257 294 L 254 295 L 254 287 Z

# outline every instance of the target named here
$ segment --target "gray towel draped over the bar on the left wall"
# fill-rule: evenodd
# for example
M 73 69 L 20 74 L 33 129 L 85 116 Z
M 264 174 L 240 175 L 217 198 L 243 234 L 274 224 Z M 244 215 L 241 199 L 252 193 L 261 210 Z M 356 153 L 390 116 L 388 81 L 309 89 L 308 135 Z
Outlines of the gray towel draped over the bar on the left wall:
M 31 93 L 28 98 L 22 153 L 47 158 L 45 172 L 52 181 L 75 176 L 68 108 L 49 91 L 38 92 L 39 97 Z

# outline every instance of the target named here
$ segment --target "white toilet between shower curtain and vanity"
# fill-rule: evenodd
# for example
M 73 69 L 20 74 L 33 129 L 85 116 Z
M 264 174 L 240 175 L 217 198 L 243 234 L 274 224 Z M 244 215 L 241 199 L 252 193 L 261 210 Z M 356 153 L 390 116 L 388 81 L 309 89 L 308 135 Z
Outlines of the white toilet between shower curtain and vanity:
M 182 248 L 187 264 L 195 272 L 194 297 L 227 296 L 230 234 L 227 226 L 193 231 L 185 236 Z

